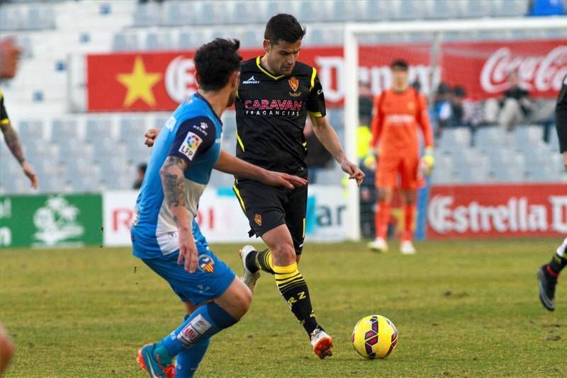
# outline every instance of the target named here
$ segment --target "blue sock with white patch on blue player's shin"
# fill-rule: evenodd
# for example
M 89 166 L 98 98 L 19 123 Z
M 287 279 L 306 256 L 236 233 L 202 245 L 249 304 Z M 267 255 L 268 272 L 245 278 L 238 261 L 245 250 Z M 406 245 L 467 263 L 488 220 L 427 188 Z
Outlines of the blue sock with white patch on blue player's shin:
M 189 318 L 169 336 L 162 340 L 162 345 L 171 357 L 192 345 L 210 338 L 215 333 L 232 326 L 234 319 L 215 302 L 199 307 Z

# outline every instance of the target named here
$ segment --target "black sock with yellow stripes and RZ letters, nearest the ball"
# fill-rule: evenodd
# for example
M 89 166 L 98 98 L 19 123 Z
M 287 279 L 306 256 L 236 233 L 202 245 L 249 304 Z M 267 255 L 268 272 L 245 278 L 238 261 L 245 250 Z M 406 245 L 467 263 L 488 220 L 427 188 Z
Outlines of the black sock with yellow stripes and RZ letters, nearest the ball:
M 310 335 L 318 327 L 309 290 L 303 276 L 297 269 L 297 264 L 274 266 L 276 284 L 283 299 L 286 299 L 291 312 Z

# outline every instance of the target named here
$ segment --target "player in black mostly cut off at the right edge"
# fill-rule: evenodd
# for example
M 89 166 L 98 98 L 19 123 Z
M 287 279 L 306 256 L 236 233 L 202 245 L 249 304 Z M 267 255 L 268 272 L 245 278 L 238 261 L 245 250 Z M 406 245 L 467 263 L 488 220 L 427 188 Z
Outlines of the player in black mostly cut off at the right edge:
M 567 171 L 567 76 L 557 98 L 555 107 L 555 125 L 559 137 L 559 150 L 563 154 L 563 166 Z M 551 261 L 537 271 L 539 279 L 539 300 L 549 311 L 555 309 L 555 286 L 561 270 L 567 265 L 567 238 L 557 248 Z

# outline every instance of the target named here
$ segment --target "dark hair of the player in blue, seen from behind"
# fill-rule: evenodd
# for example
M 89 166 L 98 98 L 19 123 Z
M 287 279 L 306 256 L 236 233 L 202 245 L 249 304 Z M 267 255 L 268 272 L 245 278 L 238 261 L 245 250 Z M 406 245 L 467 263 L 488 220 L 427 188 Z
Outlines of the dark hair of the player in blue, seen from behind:
M 239 40 L 217 38 L 198 48 L 193 57 L 199 76 L 199 87 L 204 91 L 223 88 L 235 71 L 240 69 L 242 57 L 238 54 Z

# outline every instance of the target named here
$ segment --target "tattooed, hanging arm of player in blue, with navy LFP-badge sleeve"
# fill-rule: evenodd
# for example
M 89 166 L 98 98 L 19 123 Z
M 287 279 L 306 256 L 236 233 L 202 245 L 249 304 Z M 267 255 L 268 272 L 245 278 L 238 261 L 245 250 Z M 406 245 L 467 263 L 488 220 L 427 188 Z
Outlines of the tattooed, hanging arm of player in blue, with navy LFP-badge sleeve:
M 201 127 L 204 123 L 207 127 Z M 206 129 L 206 130 L 205 130 Z M 169 154 L 159 170 L 164 199 L 179 231 L 177 263 L 193 273 L 197 268 L 197 247 L 193 240 L 189 210 L 185 202 L 185 175 L 195 156 L 215 143 L 215 125 L 206 117 L 192 118 L 179 125 Z

